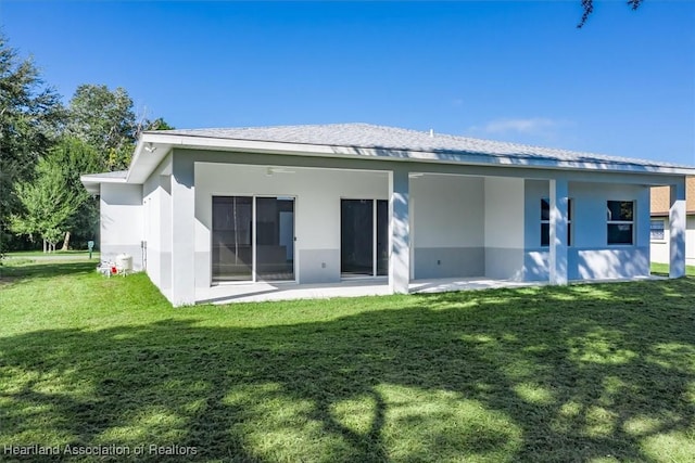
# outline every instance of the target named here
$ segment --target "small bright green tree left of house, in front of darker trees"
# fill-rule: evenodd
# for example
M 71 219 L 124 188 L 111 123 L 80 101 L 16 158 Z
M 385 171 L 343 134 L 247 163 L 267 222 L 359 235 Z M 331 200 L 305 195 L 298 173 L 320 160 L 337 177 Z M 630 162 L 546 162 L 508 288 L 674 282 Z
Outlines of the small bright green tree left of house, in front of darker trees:
M 31 241 L 43 240 L 43 252 L 47 245 L 48 250 L 55 250 L 55 243 L 79 208 L 79 198 L 67 188 L 62 166 L 50 156 L 40 159 L 36 179 L 18 182 L 14 192 L 24 210 L 10 216 L 10 229 Z

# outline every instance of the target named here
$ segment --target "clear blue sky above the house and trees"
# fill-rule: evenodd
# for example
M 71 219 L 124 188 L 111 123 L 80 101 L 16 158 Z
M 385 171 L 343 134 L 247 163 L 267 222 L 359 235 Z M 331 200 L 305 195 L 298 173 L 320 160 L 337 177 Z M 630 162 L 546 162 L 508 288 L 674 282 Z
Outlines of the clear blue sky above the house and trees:
M 695 2 L 0 0 L 68 100 L 177 128 L 363 121 L 695 165 Z

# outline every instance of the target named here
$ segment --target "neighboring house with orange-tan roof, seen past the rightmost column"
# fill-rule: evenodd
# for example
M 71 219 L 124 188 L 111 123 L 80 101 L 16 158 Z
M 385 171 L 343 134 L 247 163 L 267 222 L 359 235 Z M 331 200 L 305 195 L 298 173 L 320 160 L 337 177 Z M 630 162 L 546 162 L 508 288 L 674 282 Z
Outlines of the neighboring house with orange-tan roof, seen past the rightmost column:
M 685 181 L 685 210 L 687 224 L 685 232 L 685 262 L 695 266 L 695 177 Z M 669 188 L 652 189 L 652 261 L 669 261 Z

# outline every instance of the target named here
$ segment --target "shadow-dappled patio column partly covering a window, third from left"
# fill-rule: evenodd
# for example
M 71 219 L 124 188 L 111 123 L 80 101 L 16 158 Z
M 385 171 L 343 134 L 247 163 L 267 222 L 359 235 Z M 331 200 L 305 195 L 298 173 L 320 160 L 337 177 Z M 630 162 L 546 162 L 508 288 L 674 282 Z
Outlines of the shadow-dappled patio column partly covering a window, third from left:
M 567 284 L 567 179 L 551 180 L 551 284 Z

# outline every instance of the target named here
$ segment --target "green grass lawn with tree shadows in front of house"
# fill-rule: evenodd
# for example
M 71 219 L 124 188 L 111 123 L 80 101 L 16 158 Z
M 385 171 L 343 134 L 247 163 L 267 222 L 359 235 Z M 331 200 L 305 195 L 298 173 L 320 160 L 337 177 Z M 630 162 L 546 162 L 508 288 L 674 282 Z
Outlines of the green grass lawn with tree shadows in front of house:
M 2 269 L 0 460 L 695 461 L 693 276 L 173 309 L 94 265 Z

